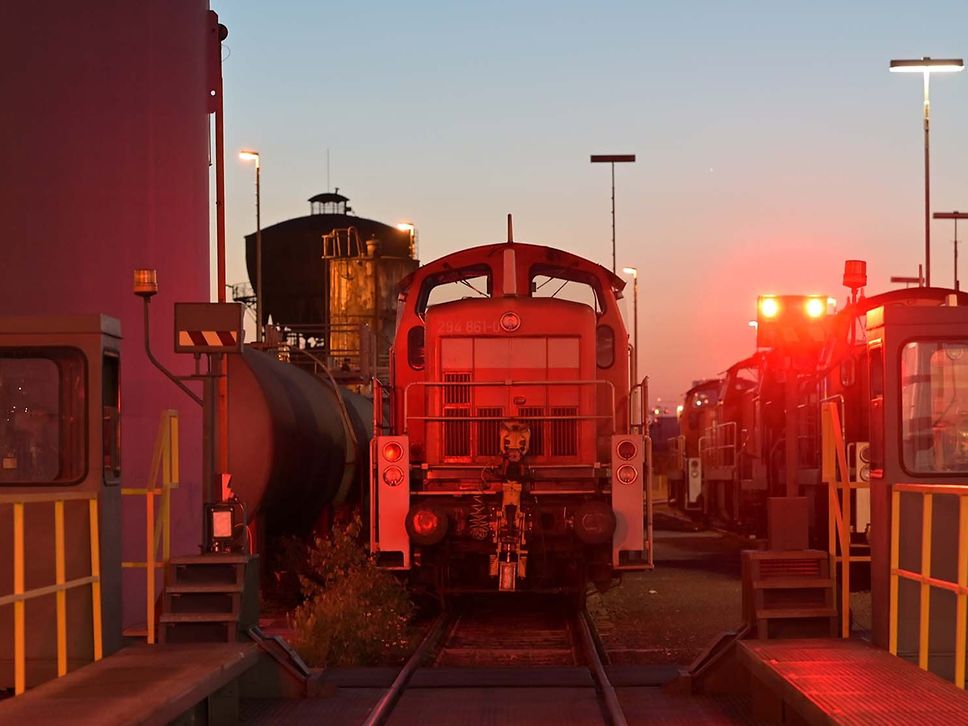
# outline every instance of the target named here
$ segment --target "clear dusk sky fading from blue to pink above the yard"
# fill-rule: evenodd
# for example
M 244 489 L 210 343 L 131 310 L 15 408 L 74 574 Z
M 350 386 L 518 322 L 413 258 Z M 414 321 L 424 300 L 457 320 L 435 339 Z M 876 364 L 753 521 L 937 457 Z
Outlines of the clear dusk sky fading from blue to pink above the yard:
M 891 58 L 968 56 L 964 2 L 213 2 L 229 28 L 229 282 L 264 226 L 330 186 L 413 221 L 429 261 L 515 238 L 640 270 L 640 370 L 674 405 L 753 351 L 763 292 L 841 302 L 923 258 L 921 76 Z M 932 207 L 968 210 L 968 74 L 933 76 Z M 214 187 L 214 185 L 213 185 Z M 213 205 L 214 207 L 214 205 Z M 933 225 L 932 282 L 952 284 Z M 961 235 L 968 238 L 968 224 Z M 968 279 L 968 267 L 962 265 Z M 631 286 L 627 298 L 631 306 Z

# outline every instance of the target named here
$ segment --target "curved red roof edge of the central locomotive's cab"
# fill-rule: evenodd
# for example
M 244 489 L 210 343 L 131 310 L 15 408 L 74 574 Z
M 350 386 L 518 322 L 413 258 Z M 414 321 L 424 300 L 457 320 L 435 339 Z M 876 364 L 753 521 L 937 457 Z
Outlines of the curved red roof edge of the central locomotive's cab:
M 522 265 L 530 268 L 536 264 L 546 264 L 549 267 L 561 269 L 575 269 L 594 275 L 606 283 L 616 297 L 621 297 L 621 292 L 625 289 L 625 280 L 613 273 L 611 270 L 602 267 L 597 262 L 579 257 L 571 252 L 560 250 L 556 247 L 545 245 L 531 245 L 521 242 L 497 242 L 494 244 L 469 247 L 464 250 L 452 252 L 449 255 L 439 257 L 436 260 L 422 265 L 414 272 L 407 275 L 400 281 L 399 289 L 402 291 L 412 287 L 415 283 L 423 282 L 430 275 L 447 272 L 448 270 L 461 270 L 479 267 L 482 264 L 491 266 L 497 271 L 501 271 L 501 255 L 506 249 L 513 249 L 516 257 L 518 269 Z M 491 262 L 493 260 L 493 263 Z

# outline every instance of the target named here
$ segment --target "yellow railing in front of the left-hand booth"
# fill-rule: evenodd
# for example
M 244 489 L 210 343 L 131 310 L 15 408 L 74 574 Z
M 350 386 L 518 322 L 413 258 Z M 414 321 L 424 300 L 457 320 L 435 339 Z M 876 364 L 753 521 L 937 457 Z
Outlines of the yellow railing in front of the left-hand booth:
M 91 574 L 67 580 L 64 547 L 64 502 L 88 501 Z M 54 584 L 24 588 L 24 508 L 28 504 L 54 504 Z M 13 605 L 14 693 L 27 687 L 26 605 L 28 600 L 55 595 L 57 614 L 57 676 L 67 673 L 67 591 L 91 586 L 91 631 L 94 660 L 101 660 L 101 553 L 98 535 L 96 492 L 47 492 L 38 494 L 0 494 L 0 504 L 13 505 L 13 594 L 0 597 L 0 607 Z

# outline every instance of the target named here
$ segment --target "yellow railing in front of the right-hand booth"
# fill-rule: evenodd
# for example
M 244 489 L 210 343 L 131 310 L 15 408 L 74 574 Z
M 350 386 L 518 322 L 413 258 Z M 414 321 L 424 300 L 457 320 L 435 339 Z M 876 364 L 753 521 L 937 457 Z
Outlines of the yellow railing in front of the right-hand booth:
M 921 509 L 921 571 L 912 572 L 900 567 L 901 494 L 919 494 Z M 957 581 L 931 576 L 931 534 L 934 520 L 934 497 L 958 497 L 958 570 Z M 890 651 L 897 655 L 898 585 L 900 579 L 920 585 L 918 623 L 918 666 L 928 669 L 929 635 L 931 633 L 931 588 L 952 592 L 955 610 L 955 685 L 965 687 L 966 631 L 968 631 L 968 485 L 963 484 L 895 484 L 891 490 L 891 616 Z

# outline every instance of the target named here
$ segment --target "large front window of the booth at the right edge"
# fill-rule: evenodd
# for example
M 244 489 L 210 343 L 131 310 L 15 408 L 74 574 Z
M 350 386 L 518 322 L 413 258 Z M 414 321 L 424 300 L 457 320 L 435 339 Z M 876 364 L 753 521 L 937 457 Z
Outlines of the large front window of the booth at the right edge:
M 968 472 L 968 341 L 904 346 L 901 444 L 911 473 Z

